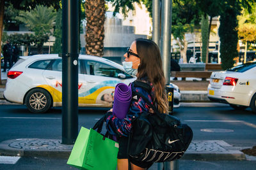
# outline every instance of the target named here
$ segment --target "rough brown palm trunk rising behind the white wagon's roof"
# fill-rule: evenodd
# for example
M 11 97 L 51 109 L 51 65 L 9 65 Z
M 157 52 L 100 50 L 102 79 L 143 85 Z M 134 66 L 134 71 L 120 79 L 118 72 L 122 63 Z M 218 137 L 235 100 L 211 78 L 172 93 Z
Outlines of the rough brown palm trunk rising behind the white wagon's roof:
M 85 1 L 86 16 L 86 53 L 103 56 L 105 0 Z

